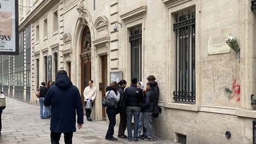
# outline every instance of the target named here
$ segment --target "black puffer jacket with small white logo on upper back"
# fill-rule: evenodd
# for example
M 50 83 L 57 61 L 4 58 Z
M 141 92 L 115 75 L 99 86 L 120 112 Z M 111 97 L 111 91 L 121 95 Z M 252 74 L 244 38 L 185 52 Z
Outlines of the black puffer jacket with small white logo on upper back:
M 142 89 L 137 88 L 136 84 L 131 84 L 124 91 L 124 97 L 126 97 L 126 107 L 139 107 L 143 101 Z

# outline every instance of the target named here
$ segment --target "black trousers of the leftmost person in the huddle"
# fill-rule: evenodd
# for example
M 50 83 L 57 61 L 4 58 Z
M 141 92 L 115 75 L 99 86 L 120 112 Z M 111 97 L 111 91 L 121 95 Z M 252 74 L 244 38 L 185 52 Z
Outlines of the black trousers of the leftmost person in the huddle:
M 114 126 L 116 126 L 116 112 L 117 108 L 107 108 L 107 116 L 110 120 L 110 123 L 108 124 L 108 130 L 107 134 L 105 135 L 106 138 L 113 137 L 114 135 Z

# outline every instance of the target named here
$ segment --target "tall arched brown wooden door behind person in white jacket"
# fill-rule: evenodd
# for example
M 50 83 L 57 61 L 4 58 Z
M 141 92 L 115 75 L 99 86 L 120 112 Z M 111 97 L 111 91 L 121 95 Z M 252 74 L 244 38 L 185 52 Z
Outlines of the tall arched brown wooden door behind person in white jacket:
M 91 33 L 89 27 L 86 25 L 82 32 L 81 39 L 81 89 L 82 89 L 82 101 L 84 104 L 84 88 L 88 86 L 88 81 L 91 79 Z

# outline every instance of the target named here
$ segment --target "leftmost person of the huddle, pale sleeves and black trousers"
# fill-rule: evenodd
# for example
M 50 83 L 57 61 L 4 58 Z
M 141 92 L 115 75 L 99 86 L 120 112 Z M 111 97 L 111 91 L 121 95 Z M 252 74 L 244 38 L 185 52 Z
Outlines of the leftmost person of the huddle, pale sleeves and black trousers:
M 107 107 L 107 116 L 110 121 L 108 124 L 108 130 L 107 134 L 105 135 L 105 139 L 107 140 L 117 140 L 116 137 L 114 137 L 114 126 L 116 125 L 116 113 L 117 113 L 117 103 L 119 102 L 120 99 L 120 93 L 118 91 L 118 84 L 117 82 L 112 82 L 110 86 L 106 88 L 106 97 L 107 99 L 109 98 L 114 98 L 114 101 L 116 102 L 116 107 Z

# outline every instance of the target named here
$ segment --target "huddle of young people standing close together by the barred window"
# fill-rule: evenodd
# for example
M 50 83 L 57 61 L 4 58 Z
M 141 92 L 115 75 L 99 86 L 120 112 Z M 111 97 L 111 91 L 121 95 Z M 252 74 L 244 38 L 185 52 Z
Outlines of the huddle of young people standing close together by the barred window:
M 112 82 L 106 88 L 106 97 L 114 98 L 116 107 L 107 107 L 107 116 L 110 120 L 105 139 L 117 140 L 114 137 L 116 114 L 120 113 L 118 137 L 128 138 L 129 141 L 137 141 L 141 138 L 145 141 L 156 140 L 155 130 L 152 126 L 153 107 L 158 100 L 159 88 L 155 82 L 155 76 L 149 75 L 146 89 L 142 82 L 132 79 L 130 87 L 126 88 L 127 82 L 122 79 L 118 84 Z M 132 133 L 132 117 L 134 117 L 134 132 Z M 128 136 L 124 135 L 127 127 Z

